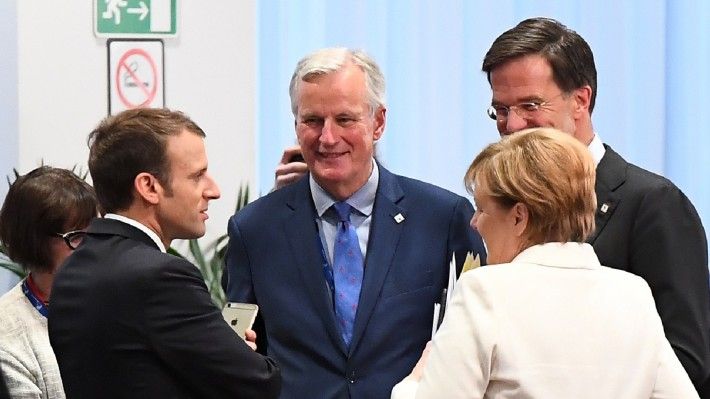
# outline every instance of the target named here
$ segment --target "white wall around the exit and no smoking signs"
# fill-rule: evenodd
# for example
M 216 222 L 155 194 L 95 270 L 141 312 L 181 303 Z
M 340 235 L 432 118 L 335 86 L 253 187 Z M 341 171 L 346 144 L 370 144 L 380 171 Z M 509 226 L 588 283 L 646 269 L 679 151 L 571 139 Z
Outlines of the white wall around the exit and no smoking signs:
M 22 173 L 42 160 L 87 170 L 86 137 L 108 109 L 106 41 L 93 35 L 92 3 L 16 0 Z M 165 104 L 205 130 L 222 189 L 207 240 L 226 231 L 239 183 L 255 184 L 255 13 L 253 1 L 180 0 L 178 37 L 165 39 Z

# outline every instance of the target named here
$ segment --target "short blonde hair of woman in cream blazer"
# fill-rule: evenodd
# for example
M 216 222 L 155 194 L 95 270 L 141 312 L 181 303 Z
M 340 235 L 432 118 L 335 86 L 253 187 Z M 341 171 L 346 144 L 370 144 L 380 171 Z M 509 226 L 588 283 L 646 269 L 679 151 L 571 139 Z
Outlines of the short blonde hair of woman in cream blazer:
M 470 193 L 490 195 L 509 209 L 528 209 L 529 245 L 584 242 L 594 230 L 595 165 L 574 137 L 551 128 L 517 132 L 488 145 L 469 166 Z

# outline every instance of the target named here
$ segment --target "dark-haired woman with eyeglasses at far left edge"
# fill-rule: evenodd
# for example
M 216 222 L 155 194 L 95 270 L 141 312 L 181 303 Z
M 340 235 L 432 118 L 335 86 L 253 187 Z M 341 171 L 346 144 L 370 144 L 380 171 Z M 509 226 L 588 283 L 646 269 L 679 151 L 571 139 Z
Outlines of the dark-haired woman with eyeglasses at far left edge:
M 65 397 L 47 333 L 52 282 L 97 207 L 90 185 L 49 166 L 18 177 L 5 197 L 0 241 L 28 272 L 0 297 L 0 363 L 12 398 Z

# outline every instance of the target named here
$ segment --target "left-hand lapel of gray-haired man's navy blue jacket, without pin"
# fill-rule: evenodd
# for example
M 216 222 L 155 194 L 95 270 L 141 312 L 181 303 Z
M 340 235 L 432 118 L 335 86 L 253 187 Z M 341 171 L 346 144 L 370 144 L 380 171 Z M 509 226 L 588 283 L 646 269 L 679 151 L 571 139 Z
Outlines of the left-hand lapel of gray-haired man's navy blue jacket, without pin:
M 313 206 L 308 177 L 294 183 L 293 195 L 287 200 L 288 215 L 283 220 L 291 251 L 291 259 L 299 268 L 303 284 L 313 301 L 317 313 L 323 319 L 323 325 L 331 340 L 347 354 L 345 343 L 340 336 L 333 310 L 330 291 L 323 276 L 323 257 L 318 247 L 316 212 Z

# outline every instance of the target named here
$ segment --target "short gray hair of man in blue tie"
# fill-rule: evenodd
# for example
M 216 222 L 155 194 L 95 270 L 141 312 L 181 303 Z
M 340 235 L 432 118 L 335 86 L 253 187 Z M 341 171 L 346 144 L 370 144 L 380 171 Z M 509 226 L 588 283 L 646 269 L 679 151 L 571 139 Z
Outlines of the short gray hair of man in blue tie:
M 337 72 L 348 64 L 357 65 L 365 72 L 365 89 L 370 112 L 385 106 L 385 76 L 375 60 L 361 50 L 351 50 L 344 47 L 324 48 L 303 57 L 291 77 L 288 94 L 291 96 L 291 111 L 298 114 L 298 90 L 302 81 L 308 81 L 315 76 Z

